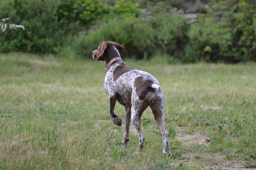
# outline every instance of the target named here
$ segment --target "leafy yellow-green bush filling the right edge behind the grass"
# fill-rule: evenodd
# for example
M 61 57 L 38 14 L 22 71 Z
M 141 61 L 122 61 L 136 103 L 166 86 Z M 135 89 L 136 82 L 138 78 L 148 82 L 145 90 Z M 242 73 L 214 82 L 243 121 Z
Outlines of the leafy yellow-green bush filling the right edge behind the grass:
M 210 0 L 210 5 L 212 8 L 201 16 L 201 36 L 212 48 L 208 51 L 210 60 L 256 60 L 256 2 Z

